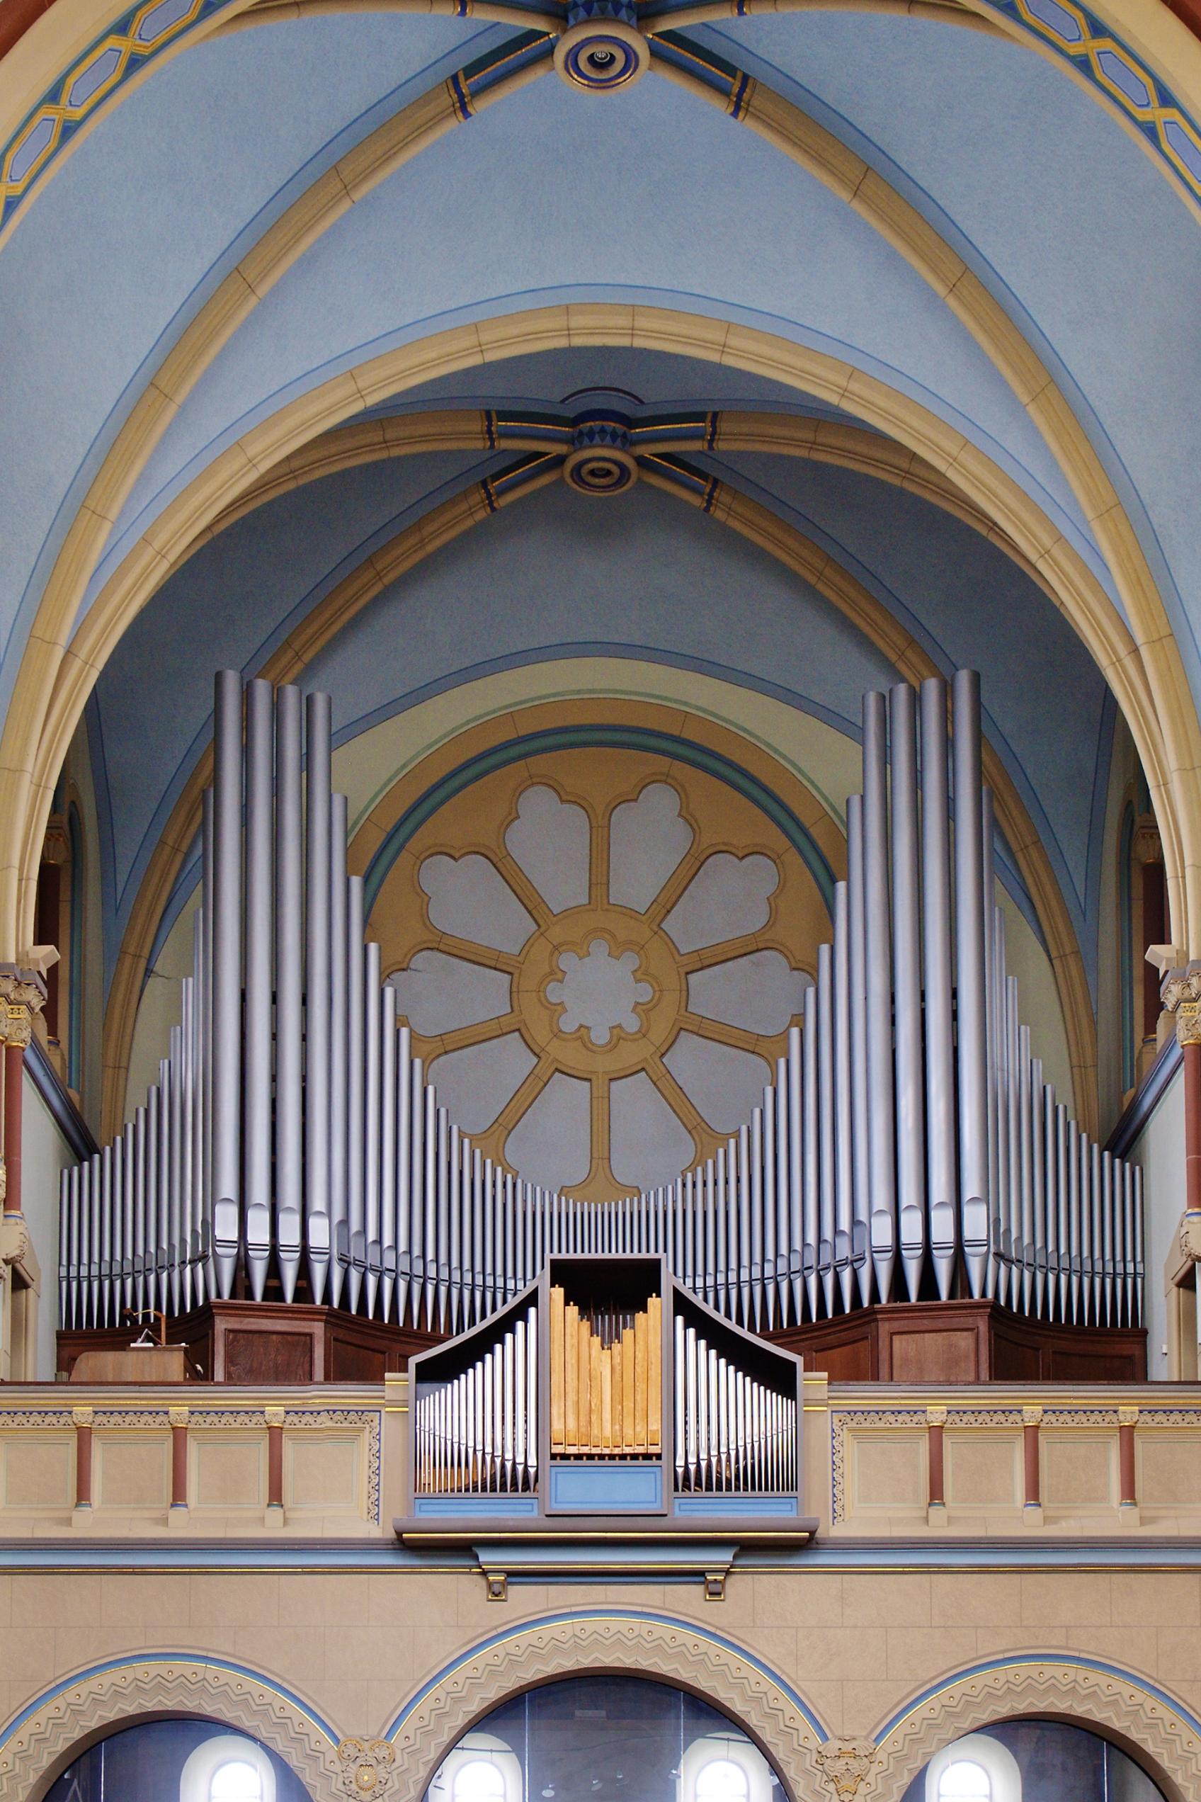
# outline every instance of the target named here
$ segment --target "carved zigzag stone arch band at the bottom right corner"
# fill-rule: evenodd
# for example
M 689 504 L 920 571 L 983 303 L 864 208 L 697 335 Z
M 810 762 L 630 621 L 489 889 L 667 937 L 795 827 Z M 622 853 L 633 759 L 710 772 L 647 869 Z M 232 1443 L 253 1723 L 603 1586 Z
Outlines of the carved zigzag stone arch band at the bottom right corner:
M 1055 1652 L 974 1665 L 906 1703 L 875 1735 L 862 1802 L 900 1802 L 949 1741 L 1023 1714 L 1057 1717 L 1113 1739 L 1172 1802 L 1201 1791 L 1201 1723 L 1183 1705 L 1129 1670 Z

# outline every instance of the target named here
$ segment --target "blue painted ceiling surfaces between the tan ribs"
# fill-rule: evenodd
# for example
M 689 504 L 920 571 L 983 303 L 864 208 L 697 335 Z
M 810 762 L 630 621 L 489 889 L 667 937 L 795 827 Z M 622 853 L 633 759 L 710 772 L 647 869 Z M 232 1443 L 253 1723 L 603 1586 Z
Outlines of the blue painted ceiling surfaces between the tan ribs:
M 0 249 L 0 701 L 86 487 L 184 326 L 348 148 L 511 36 L 351 5 L 261 23 L 155 67 L 61 159 Z M 864 157 L 1028 337 L 1127 506 L 1201 694 L 1201 234 L 1179 184 L 1113 108 L 996 34 L 832 7 L 693 36 Z M 135 472 L 79 616 L 248 423 L 389 346 L 564 299 L 754 324 L 875 375 L 985 450 L 1115 595 L 1032 416 L 861 213 L 657 74 L 607 101 L 547 74 L 297 256 Z M 636 414 L 839 418 L 765 377 L 616 348 L 472 368 L 375 411 L 560 409 L 582 389 L 627 391 Z M 257 669 L 373 544 L 504 461 L 454 452 L 324 478 L 169 577 L 90 708 L 110 964 L 203 744 L 212 665 Z M 1055 607 L 971 526 L 868 476 L 776 456 L 708 469 L 825 546 L 944 669 L 983 670 L 990 735 L 1095 973 L 1113 710 Z M 582 647 L 713 669 L 846 730 L 862 687 L 888 676 L 825 600 L 729 530 L 645 490 L 589 510 L 555 488 L 418 566 L 306 679 L 333 690 L 349 735 L 481 667 Z

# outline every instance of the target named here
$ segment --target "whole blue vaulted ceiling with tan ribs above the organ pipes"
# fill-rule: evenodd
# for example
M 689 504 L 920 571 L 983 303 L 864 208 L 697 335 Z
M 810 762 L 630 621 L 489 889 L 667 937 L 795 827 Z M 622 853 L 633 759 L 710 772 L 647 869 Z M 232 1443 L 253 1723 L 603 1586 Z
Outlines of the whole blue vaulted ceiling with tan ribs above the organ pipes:
M 812 723 L 835 815 L 862 688 L 974 665 L 1064 1009 L 1118 715 L 1201 939 L 1201 43 L 1160 0 L 54 0 L 4 70 L 5 955 L 86 714 L 106 978 L 146 968 L 216 665 L 330 688 L 364 807 L 355 744 L 438 697 L 430 742 L 686 679 Z

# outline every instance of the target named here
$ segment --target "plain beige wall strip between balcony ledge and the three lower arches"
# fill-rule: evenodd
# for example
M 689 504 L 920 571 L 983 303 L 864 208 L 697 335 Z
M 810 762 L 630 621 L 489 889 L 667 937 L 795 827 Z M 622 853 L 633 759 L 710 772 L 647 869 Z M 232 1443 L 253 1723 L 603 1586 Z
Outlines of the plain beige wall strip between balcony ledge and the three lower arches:
M 250 1665 L 339 1737 L 367 1737 L 479 1640 L 605 1606 L 735 1640 L 832 1735 L 868 1737 L 920 1690 L 1019 1652 L 1115 1663 L 1201 1708 L 1194 1573 L 776 1571 L 735 1575 L 724 1602 L 704 1602 L 697 1582 L 529 1584 L 488 1602 L 475 1575 L 196 1570 L 0 1575 L 0 1710 L 14 1714 L 65 1672 L 169 1649 Z

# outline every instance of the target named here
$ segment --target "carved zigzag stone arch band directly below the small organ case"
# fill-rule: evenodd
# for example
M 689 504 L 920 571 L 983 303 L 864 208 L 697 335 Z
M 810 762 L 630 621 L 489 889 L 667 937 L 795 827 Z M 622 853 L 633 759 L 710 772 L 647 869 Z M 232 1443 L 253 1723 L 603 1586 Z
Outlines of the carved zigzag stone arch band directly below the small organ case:
M 609 1609 L 553 1615 L 499 1633 L 425 1683 L 385 1728 L 398 1770 L 389 1802 L 421 1802 L 456 1741 L 510 1696 L 587 1672 L 645 1676 L 691 1690 L 756 1741 L 792 1802 L 817 1791 L 825 1728 L 767 1665 L 688 1622 Z

